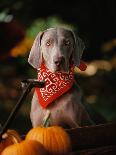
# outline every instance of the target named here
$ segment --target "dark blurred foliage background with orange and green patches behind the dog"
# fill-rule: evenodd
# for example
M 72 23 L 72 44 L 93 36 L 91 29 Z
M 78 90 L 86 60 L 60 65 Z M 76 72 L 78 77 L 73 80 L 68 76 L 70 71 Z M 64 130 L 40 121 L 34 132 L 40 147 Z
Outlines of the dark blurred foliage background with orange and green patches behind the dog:
M 0 0 L 0 123 L 3 126 L 22 94 L 21 80 L 36 78 L 27 59 L 34 38 L 49 27 L 74 30 L 85 42 L 85 72 L 77 81 L 91 115 L 116 120 L 116 1 Z M 33 91 L 10 128 L 25 134 Z M 89 108 L 88 108 L 89 107 Z M 93 110 L 92 110 L 93 109 Z M 96 116 L 95 116 L 96 117 Z

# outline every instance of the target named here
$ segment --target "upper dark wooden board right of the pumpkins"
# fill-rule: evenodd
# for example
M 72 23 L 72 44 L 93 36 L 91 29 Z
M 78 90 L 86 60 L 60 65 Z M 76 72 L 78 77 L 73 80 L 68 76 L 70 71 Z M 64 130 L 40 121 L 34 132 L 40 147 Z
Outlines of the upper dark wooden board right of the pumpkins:
M 116 123 L 85 126 L 66 131 L 71 137 L 73 150 L 116 144 Z

